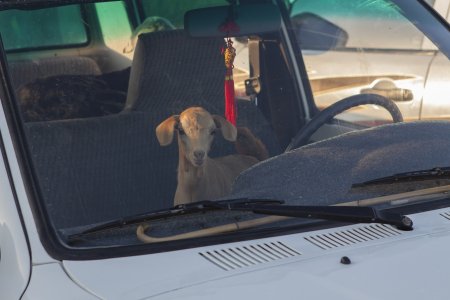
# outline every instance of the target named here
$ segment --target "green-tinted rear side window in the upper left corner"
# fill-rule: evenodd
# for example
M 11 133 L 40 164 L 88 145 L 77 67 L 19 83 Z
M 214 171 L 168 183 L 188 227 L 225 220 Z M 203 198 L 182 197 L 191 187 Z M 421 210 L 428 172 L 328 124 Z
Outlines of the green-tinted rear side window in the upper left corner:
M 88 42 L 79 5 L 0 12 L 6 50 L 39 49 Z

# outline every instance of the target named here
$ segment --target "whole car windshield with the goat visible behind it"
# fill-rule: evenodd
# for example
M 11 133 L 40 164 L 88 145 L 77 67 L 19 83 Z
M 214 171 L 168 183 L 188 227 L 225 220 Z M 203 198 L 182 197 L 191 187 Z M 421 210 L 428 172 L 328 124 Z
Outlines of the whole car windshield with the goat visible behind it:
M 321 219 L 183 210 L 202 200 L 399 209 L 443 198 L 447 172 L 426 170 L 450 166 L 450 38 L 435 18 L 449 7 L 404 2 L 8 4 L 2 100 L 48 232 L 72 250 L 120 248 L 142 245 L 150 222 L 151 243 L 170 247 L 206 229 L 211 243 L 224 233 L 209 229 L 230 223 L 250 236 Z

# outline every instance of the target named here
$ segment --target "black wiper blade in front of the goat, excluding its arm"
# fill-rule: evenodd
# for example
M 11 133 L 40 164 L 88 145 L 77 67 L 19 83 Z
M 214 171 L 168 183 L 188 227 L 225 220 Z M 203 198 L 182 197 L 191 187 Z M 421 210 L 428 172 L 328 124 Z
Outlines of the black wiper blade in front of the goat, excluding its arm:
M 89 235 L 89 234 L 93 234 L 93 233 L 97 233 L 97 232 L 101 232 L 101 231 L 105 231 L 105 230 L 109 230 L 109 229 L 114 229 L 114 228 L 121 228 L 121 227 L 128 226 L 128 225 L 134 225 L 134 224 L 144 223 L 144 222 L 148 222 L 148 221 L 154 221 L 154 220 L 158 220 L 158 219 L 170 218 L 170 217 L 175 217 L 175 216 L 180 216 L 180 215 L 193 214 L 196 212 L 205 212 L 205 211 L 209 211 L 209 210 L 221 209 L 215 205 L 210 205 L 211 203 L 222 204 L 222 205 L 231 205 L 231 204 L 235 204 L 235 203 L 283 204 L 284 201 L 282 201 L 282 200 L 265 200 L 265 199 L 247 199 L 247 198 L 227 199 L 227 200 L 221 200 L 221 201 L 209 201 L 209 200 L 197 201 L 197 202 L 192 202 L 192 203 L 187 203 L 187 204 L 180 204 L 180 205 L 174 206 L 169 209 L 161 209 L 161 210 L 157 210 L 157 211 L 151 211 L 151 212 L 147 212 L 147 213 L 143 213 L 143 214 L 137 214 L 137 215 L 127 216 L 127 217 L 123 217 L 123 218 L 119 218 L 119 219 L 115 219 L 115 220 L 111 220 L 111 221 L 106 221 L 104 223 L 97 224 L 97 225 L 95 225 L 89 229 L 83 230 L 81 232 L 78 232 L 75 234 L 70 234 L 70 235 L 68 235 L 67 238 L 69 240 L 73 240 L 73 239 L 83 237 L 85 235 Z

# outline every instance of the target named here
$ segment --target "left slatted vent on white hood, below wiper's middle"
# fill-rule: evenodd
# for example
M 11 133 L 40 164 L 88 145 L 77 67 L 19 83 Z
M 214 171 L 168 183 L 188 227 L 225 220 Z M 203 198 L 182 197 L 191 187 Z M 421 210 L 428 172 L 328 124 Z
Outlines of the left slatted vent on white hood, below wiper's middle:
M 210 250 L 199 254 L 226 271 L 301 255 L 300 252 L 282 242 Z

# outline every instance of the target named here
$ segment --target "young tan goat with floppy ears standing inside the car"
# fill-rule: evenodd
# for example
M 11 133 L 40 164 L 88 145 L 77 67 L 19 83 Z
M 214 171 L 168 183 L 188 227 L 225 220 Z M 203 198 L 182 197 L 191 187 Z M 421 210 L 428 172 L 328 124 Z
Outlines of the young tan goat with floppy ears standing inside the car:
M 227 195 L 235 178 L 245 169 L 268 157 L 267 150 L 247 128 L 238 128 L 201 107 L 190 107 L 167 118 L 156 128 L 161 146 L 172 143 L 177 131 L 179 162 L 174 205 L 211 200 Z M 214 134 L 236 142 L 242 154 L 209 158 Z M 243 155 L 245 154 L 245 155 Z

